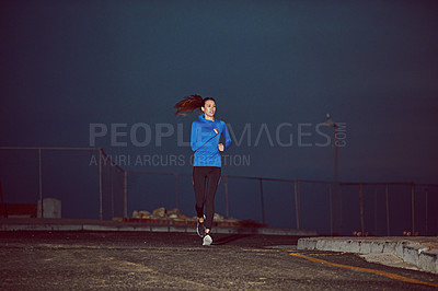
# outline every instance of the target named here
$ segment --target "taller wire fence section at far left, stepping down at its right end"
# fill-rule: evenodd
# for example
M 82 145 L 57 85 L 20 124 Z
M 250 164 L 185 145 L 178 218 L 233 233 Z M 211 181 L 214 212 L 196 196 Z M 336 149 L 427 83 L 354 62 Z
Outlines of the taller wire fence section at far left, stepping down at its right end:
M 55 198 L 65 218 L 127 216 L 126 171 L 99 148 L 0 148 L 0 185 L 4 203 Z

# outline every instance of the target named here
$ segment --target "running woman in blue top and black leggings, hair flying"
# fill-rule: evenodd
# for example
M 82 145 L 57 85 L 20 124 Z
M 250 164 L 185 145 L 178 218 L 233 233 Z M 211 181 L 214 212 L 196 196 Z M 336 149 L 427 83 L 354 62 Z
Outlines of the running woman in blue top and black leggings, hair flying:
M 191 146 L 192 151 L 195 152 L 193 186 L 198 218 L 197 233 L 203 237 L 203 245 L 210 245 L 212 243 L 210 232 L 215 216 L 215 195 L 222 166 L 220 152 L 231 146 L 231 138 L 226 124 L 215 118 L 216 102 L 212 97 L 203 98 L 199 95 L 189 95 L 176 103 L 175 108 L 177 108 L 175 115 L 186 115 L 200 108 L 201 114 L 198 116 L 198 120 L 192 123 Z M 226 144 L 219 143 L 221 135 Z

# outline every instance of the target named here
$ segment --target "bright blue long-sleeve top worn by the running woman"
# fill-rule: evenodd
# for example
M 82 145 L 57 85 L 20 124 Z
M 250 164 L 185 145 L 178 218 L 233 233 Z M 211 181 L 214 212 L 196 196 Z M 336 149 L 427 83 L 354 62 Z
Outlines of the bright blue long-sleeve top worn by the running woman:
M 226 139 L 223 150 L 231 146 L 231 138 L 226 123 L 216 118 L 214 118 L 214 121 L 208 120 L 204 114 L 199 115 L 198 119 L 192 123 L 191 144 L 192 150 L 195 152 L 193 165 L 220 167 L 222 166 L 218 149 L 220 135 Z M 215 132 L 215 128 L 218 129 L 219 133 Z

